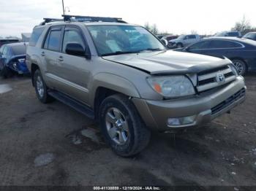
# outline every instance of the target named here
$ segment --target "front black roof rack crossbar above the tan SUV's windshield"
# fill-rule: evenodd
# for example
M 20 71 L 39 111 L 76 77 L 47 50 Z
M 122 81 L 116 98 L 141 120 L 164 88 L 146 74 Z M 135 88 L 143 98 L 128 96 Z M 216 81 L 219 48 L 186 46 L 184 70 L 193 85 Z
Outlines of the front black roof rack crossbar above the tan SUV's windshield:
M 117 17 L 90 17 L 90 16 L 80 16 L 80 15 L 62 15 L 62 17 L 64 17 L 64 21 L 127 23 L 121 18 L 117 18 Z

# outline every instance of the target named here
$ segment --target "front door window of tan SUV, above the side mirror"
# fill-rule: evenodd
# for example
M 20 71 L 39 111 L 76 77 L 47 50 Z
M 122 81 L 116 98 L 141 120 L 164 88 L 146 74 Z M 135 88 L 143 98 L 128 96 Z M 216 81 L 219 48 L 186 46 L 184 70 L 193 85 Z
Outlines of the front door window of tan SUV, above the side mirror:
M 65 52 L 67 44 L 70 42 L 78 43 L 83 45 L 83 39 L 82 36 L 80 36 L 80 33 L 77 29 L 67 29 L 64 32 L 64 38 L 63 38 L 63 46 L 62 46 L 62 52 Z

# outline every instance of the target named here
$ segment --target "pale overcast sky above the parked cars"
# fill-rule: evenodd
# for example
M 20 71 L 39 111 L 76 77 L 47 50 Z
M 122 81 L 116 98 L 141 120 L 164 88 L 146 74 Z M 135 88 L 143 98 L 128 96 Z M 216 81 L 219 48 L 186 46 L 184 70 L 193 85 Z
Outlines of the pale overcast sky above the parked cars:
M 69 15 L 122 17 L 128 23 L 156 24 L 172 34 L 228 31 L 244 16 L 256 26 L 255 0 L 64 0 Z M 61 0 L 0 0 L 0 36 L 31 32 L 43 17 L 61 17 Z

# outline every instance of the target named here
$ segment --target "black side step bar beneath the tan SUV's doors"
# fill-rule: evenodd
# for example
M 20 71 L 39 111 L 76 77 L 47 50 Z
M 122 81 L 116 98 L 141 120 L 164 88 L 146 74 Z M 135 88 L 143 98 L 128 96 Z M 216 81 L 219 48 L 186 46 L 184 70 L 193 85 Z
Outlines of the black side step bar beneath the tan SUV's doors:
M 94 111 L 91 108 L 89 108 L 89 106 L 82 104 L 80 101 L 76 101 L 75 99 L 70 98 L 68 95 L 60 93 L 56 90 L 50 90 L 48 94 L 53 98 L 56 98 L 57 100 L 61 101 L 62 103 L 72 107 L 78 112 L 86 115 L 87 117 L 94 119 Z

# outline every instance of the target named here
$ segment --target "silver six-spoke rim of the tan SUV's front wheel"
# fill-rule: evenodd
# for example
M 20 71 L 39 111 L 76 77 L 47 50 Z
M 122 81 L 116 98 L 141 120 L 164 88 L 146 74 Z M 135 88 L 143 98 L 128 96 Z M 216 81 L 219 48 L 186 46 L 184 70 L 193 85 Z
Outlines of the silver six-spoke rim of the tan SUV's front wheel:
M 108 109 L 105 117 L 106 127 L 110 139 L 118 145 L 123 145 L 129 137 L 129 128 L 124 114 L 115 107 Z

